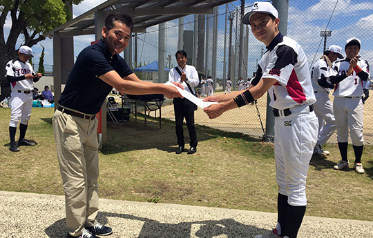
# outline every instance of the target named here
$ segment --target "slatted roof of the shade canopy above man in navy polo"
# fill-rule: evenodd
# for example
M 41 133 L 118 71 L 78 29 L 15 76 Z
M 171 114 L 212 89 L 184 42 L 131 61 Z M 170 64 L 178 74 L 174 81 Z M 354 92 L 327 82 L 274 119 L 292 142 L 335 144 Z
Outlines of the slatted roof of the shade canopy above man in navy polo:
M 133 18 L 133 32 L 145 32 L 146 28 L 159 23 L 185 17 L 189 14 L 213 14 L 213 8 L 235 0 L 108 0 L 84 14 L 68 21 L 45 37 L 59 32 L 61 37 L 95 34 L 95 12 L 103 10 L 106 14 L 123 12 Z

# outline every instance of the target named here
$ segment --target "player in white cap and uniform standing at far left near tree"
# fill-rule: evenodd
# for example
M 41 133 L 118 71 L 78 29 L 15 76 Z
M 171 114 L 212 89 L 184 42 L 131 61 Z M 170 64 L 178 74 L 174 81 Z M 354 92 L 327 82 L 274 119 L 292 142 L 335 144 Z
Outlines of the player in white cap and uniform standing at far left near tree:
M 10 83 L 12 92 L 10 93 L 10 147 L 12 152 L 19 151 L 18 146 L 35 146 L 35 143 L 25 139 L 28 121 L 30 120 L 32 109 L 32 82 L 37 82 L 41 78 L 41 73 L 32 70 L 32 66 L 27 61 L 34 57 L 32 50 L 28 46 L 21 46 L 18 50 L 18 58 L 6 64 L 6 79 Z M 19 123 L 21 121 L 21 123 Z M 19 123 L 18 145 L 15 141 L 17 124 Z

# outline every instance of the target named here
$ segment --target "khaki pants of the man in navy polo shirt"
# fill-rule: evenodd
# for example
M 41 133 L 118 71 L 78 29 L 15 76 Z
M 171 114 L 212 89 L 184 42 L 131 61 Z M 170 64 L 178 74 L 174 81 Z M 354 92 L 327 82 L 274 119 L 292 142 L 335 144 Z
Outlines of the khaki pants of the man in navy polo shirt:
M 56 110 L 52 119 L 59 170 L 64 183 L 66 227 L 81 235 L 98 212 L 97 119 L 80 119 Z

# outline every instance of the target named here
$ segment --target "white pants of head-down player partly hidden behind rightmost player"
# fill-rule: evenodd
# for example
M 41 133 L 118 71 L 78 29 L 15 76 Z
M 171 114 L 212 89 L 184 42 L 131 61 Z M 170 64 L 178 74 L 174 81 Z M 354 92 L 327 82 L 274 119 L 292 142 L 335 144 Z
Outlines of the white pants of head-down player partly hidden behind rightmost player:
M 317 143 L 323 145 L 336 130 L 336 119 L 334 118 L 333 103 L 329 99 L 328 92 L 316 92 L 316 103 L 314 103 L 316 117 L 318 118 Z

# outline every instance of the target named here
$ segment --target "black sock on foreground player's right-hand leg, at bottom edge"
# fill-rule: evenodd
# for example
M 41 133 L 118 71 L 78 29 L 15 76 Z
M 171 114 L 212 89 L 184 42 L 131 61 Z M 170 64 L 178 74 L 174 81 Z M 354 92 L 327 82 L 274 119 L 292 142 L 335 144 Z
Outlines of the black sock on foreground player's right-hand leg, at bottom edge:
M 305 206 L 291 206 L 287 209 L 287 228 L 286 233 L 281 236 L 287 235 L 289 238 L 296 238 L 300 224 L 302 224 L 303 217 L 305 216 Z

